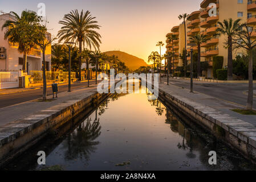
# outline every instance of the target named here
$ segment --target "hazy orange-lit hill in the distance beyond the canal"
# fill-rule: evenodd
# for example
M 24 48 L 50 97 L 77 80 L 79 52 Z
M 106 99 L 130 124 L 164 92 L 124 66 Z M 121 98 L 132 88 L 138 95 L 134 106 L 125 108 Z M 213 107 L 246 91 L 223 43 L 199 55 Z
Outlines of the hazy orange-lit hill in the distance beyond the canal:
M 125 63 L 125 65 L 129 68 L 132 69 L 133 71 L 139 67 L 147 67 L 148 64 L 145 63 L 143 59 L 140 59 L 139 57 L 129 55 L 126 52 L 121 52 L 121 51 L 107 51 L 105 52 L 106 55 L 108 56 L 118 56 L 118 59 L 122 62 Z

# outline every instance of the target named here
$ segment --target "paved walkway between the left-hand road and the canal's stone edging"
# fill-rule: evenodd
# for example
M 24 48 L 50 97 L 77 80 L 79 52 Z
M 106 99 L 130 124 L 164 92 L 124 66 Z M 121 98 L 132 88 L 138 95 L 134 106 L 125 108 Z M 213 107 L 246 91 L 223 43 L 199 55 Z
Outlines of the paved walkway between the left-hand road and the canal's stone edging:
M 34 100 L 3 107 L 0 109 L 0 127 L 18 119 L 25 118 L 31 114 L 38 113 L 41 110 L 46 110 L 52 106 L 62 104 L 63 102 L 81 100 L 82 98 L 86 98 L 96 92 L 96 84 L 91 84 L 90 88 L 82 88 L 72 92 L 59 93 L 58 99 L 51 102 L 38 102 L 37 100 Z M 47 98 L 52 98 L 52 96 L 48 96 Z

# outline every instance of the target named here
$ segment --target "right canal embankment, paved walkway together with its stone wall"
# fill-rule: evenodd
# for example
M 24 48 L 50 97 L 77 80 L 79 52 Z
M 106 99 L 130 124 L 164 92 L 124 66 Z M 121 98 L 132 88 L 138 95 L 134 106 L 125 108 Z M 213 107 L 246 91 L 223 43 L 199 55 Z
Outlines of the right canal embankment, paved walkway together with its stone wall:
M 159 97 L 172 105 L 177 115 L 185 115 L 204 127 L 247 159 L 256 162 L 256 115 L 241 115 L 232 109 L 245 109 L 202 93 L 172 84 L 159 84 Z M 218 151 L 216 151 L 218 153 Z

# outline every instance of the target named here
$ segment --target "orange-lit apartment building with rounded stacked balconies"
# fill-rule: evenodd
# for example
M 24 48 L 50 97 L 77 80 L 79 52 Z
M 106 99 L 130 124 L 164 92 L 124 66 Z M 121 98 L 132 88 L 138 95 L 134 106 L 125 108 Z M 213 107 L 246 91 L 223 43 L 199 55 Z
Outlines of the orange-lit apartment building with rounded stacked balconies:
M 217 14 L 214 16 L 209 16 L 209 11 L 213 6 L 209 6 L 210 3 L 215 3 L 217 8 Z M 166 37 L 174 32 L 178 31 L 180 36 L 179 44 L 189 44 L 189 37 L 195 34 L 205 34 L 210 40 L 208 42 L 201 44 L 201 61 L 208 61 L 209 69 L 203 73 L 206 77 L 213 77 L 212 66 L 213 66 L 213 56 L 224 56 L 224 67 L 227 65 L 227 49 L 224 48 L 226 36 L 220 35 L 216 36 L 216 30 L 218 28 L 217 22 L 223 22 L 224 19 L 232 18 L 233 20 L 242 19 L 241 22 L 251 24 L 253 30 L 253 36 L 256 38 L 256 1 L 251 0 L 204 0 L 201 2 L 198 10 L 190 13 L 188 19 L 186 20 L 186 35 L 187 39 L 185 40 L 185 32 L 183 29 L 172 28 L 171 32 L 166 35 Z M 180 26 L 175 27 L 182 27 Z M 183 40 L 182 40 L 183 39 Z M 168 43 L 169 45 L 169 43 Z M 182 49 L 177 50 L 179 53 L 182 53 L 184 46 L 179 46 Z M 187 51 L 190 51 L 190 46 L 188 45 Z M 194 50 L 197 50 L 197 47 L 193 47 Z M 170 51 L 168 49 L 168 51 Z M 246 51 L 243 49 L 238 49 L 233 51 L 233 57 L 237 55 L 242 55 Z M 188 57 L 188 63 L 190 57 Z M 182 60 L 179 59 L 178 65 L 182 65 Z

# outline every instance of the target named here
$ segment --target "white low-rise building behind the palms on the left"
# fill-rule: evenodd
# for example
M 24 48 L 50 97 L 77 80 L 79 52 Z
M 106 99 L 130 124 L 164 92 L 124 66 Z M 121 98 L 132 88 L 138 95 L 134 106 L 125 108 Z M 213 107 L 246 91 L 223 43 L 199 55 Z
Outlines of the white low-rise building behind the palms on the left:
M 11 19 L 10 14 L 0 15 L 0 27 L 6 20 Z M 0 70 L 9 71 L 19 71 L 23 67 L 23 55 L 18 52 L 18 45 L 9 44 L 8 40 L 4 39 L 5 29 L 0 30 L 0 48 L 5 49 L 5 56 L 0 57 Z M 42 70 L 42 51 L 39 47 L 33 48 L 27 55 L 27 71 Z M 46 69 L 50 71 L 51 69 L 51 46 L 46 48 Z

